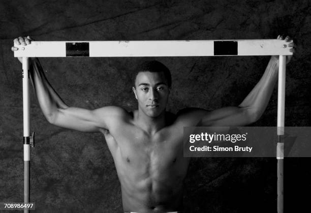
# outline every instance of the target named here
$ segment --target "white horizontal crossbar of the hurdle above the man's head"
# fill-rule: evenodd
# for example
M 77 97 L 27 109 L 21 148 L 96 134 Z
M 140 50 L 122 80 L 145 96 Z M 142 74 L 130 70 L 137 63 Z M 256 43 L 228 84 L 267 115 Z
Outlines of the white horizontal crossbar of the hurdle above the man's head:
M 292 55 L 284 40 L 34 41 L 14 57 Z

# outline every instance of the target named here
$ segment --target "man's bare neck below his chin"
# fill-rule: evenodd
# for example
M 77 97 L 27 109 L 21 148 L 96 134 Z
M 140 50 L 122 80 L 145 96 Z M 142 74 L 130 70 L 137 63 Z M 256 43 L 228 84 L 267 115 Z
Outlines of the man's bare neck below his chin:
M 136 120 L 137 125 L 149 135 L 153 135 L 166 126 L 165 114 L 165 111 L 163 111 L 157 117 L 150 117 L 143 111 L 138 110 Z

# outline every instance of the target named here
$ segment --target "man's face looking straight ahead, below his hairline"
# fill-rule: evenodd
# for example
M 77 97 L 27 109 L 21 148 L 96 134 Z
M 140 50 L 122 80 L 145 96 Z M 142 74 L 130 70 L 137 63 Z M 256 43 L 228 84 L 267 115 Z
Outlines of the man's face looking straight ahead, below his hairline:
M 159 116 L 166 108 L 170 89 L 163 72 L 140 72 L 133 92 L 139 109 L 150 117 Z

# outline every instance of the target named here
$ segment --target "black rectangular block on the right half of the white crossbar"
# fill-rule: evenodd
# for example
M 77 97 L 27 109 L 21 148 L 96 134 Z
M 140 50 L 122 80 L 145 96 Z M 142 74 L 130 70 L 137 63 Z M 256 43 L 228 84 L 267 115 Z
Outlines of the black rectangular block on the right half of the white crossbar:
M 214 55 L 237 55 L 237 41 L 214 41 Z

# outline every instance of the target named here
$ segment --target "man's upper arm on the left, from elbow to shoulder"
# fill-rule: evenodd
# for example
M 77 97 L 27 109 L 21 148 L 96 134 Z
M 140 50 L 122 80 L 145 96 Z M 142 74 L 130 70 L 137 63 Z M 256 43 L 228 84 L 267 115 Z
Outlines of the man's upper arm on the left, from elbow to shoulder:
M 81 132 L 99 132 L 101 129 L 109 129 L 109 124 L 123 111 L 114 106 L 94 110 L 68 107 L 58 109 L 51 124 Z

